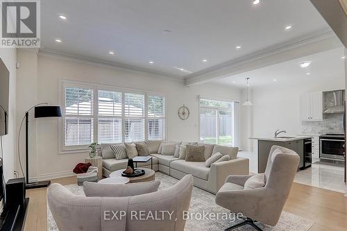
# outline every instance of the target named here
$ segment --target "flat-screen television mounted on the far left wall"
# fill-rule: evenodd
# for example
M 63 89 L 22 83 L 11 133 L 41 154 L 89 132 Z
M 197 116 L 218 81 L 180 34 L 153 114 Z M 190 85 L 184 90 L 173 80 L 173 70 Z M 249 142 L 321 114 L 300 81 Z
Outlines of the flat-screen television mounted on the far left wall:
M 8 134 L 8 94 L 10 72 L 0 58 L 0 136 Z

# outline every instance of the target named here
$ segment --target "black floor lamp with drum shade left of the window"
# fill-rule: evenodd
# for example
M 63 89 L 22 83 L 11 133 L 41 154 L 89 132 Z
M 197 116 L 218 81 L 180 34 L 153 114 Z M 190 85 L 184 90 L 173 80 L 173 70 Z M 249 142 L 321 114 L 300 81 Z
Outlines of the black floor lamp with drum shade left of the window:
M 59 106 L 49 106 L 48 103 L 40 103 L 35 106 L 35 118 L 44 118 L 44 117 L 62 117 L 62 112 Z M 25 130 L 25 158 L 26 158 L 26 189 L 37 189 L 48 187 L 51 184 L 51 180 L 39 181 L 29 183 L 29 112 L 33 109 L 29 109 L 25 112 L 26 120 L 26 130 Z M 21 125 L 22 128 L 22 125 Z M 19 128 L 20 132 L 20 128 Z

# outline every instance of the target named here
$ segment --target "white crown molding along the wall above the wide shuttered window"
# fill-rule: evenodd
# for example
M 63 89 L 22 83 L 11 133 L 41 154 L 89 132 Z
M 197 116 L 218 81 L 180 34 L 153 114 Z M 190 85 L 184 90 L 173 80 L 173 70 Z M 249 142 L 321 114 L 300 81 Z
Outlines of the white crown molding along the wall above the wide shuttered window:
M 176 76 L 173 74 L 167 74 L 162 71 L 152 71 L 149 69 L 144 69 L 141 67 L 135 67 L 130 65 L 123 65 L 118 62 L 110 62 L 107 60 L 101 60 L 96 58 L 90 58 L 83 55 L 73 55 L 70 53 L 64 53 L 61 51 L 55 51 L 51 49 L 40 49 L 38 51 L 39 56 L 49 57 L 49 58 L 58 58 L 60 60 L 67 60 L 71 62 L 78 62 L 85 65 L 94 65 L 96 67 L 106 67 L 110 69 L 117 69 L 120 71 L 130 71 L 137 74 L 145 74 L 145 75 L 151 75 L 158 78 L 166 78 L 167 80 L 172 80 L 176 82 L 184 83 L 183 76 Z

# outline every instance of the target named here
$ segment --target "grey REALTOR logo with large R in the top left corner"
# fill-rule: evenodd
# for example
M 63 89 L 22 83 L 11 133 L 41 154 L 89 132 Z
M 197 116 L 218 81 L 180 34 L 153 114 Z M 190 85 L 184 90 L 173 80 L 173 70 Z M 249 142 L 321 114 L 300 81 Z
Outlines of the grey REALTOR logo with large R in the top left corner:
M 1 47 L 40 47 L 40 0 L 1 1 Z

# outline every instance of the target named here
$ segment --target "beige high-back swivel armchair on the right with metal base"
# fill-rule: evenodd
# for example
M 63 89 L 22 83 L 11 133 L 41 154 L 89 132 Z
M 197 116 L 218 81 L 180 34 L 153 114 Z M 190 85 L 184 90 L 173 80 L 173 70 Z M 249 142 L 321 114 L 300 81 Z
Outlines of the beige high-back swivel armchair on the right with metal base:
M 245 219 L 227 230 L 242 225 L 252 225 L 261 230 L 255 221 L 276 225 L 289 196 L 299 159 L 294 151 L 273 146 L 264 173 L 264 187 L 244 189 L 252 176 L 228 176 L 216 195 L 216 203 L 235 214 L 242 213 Z

